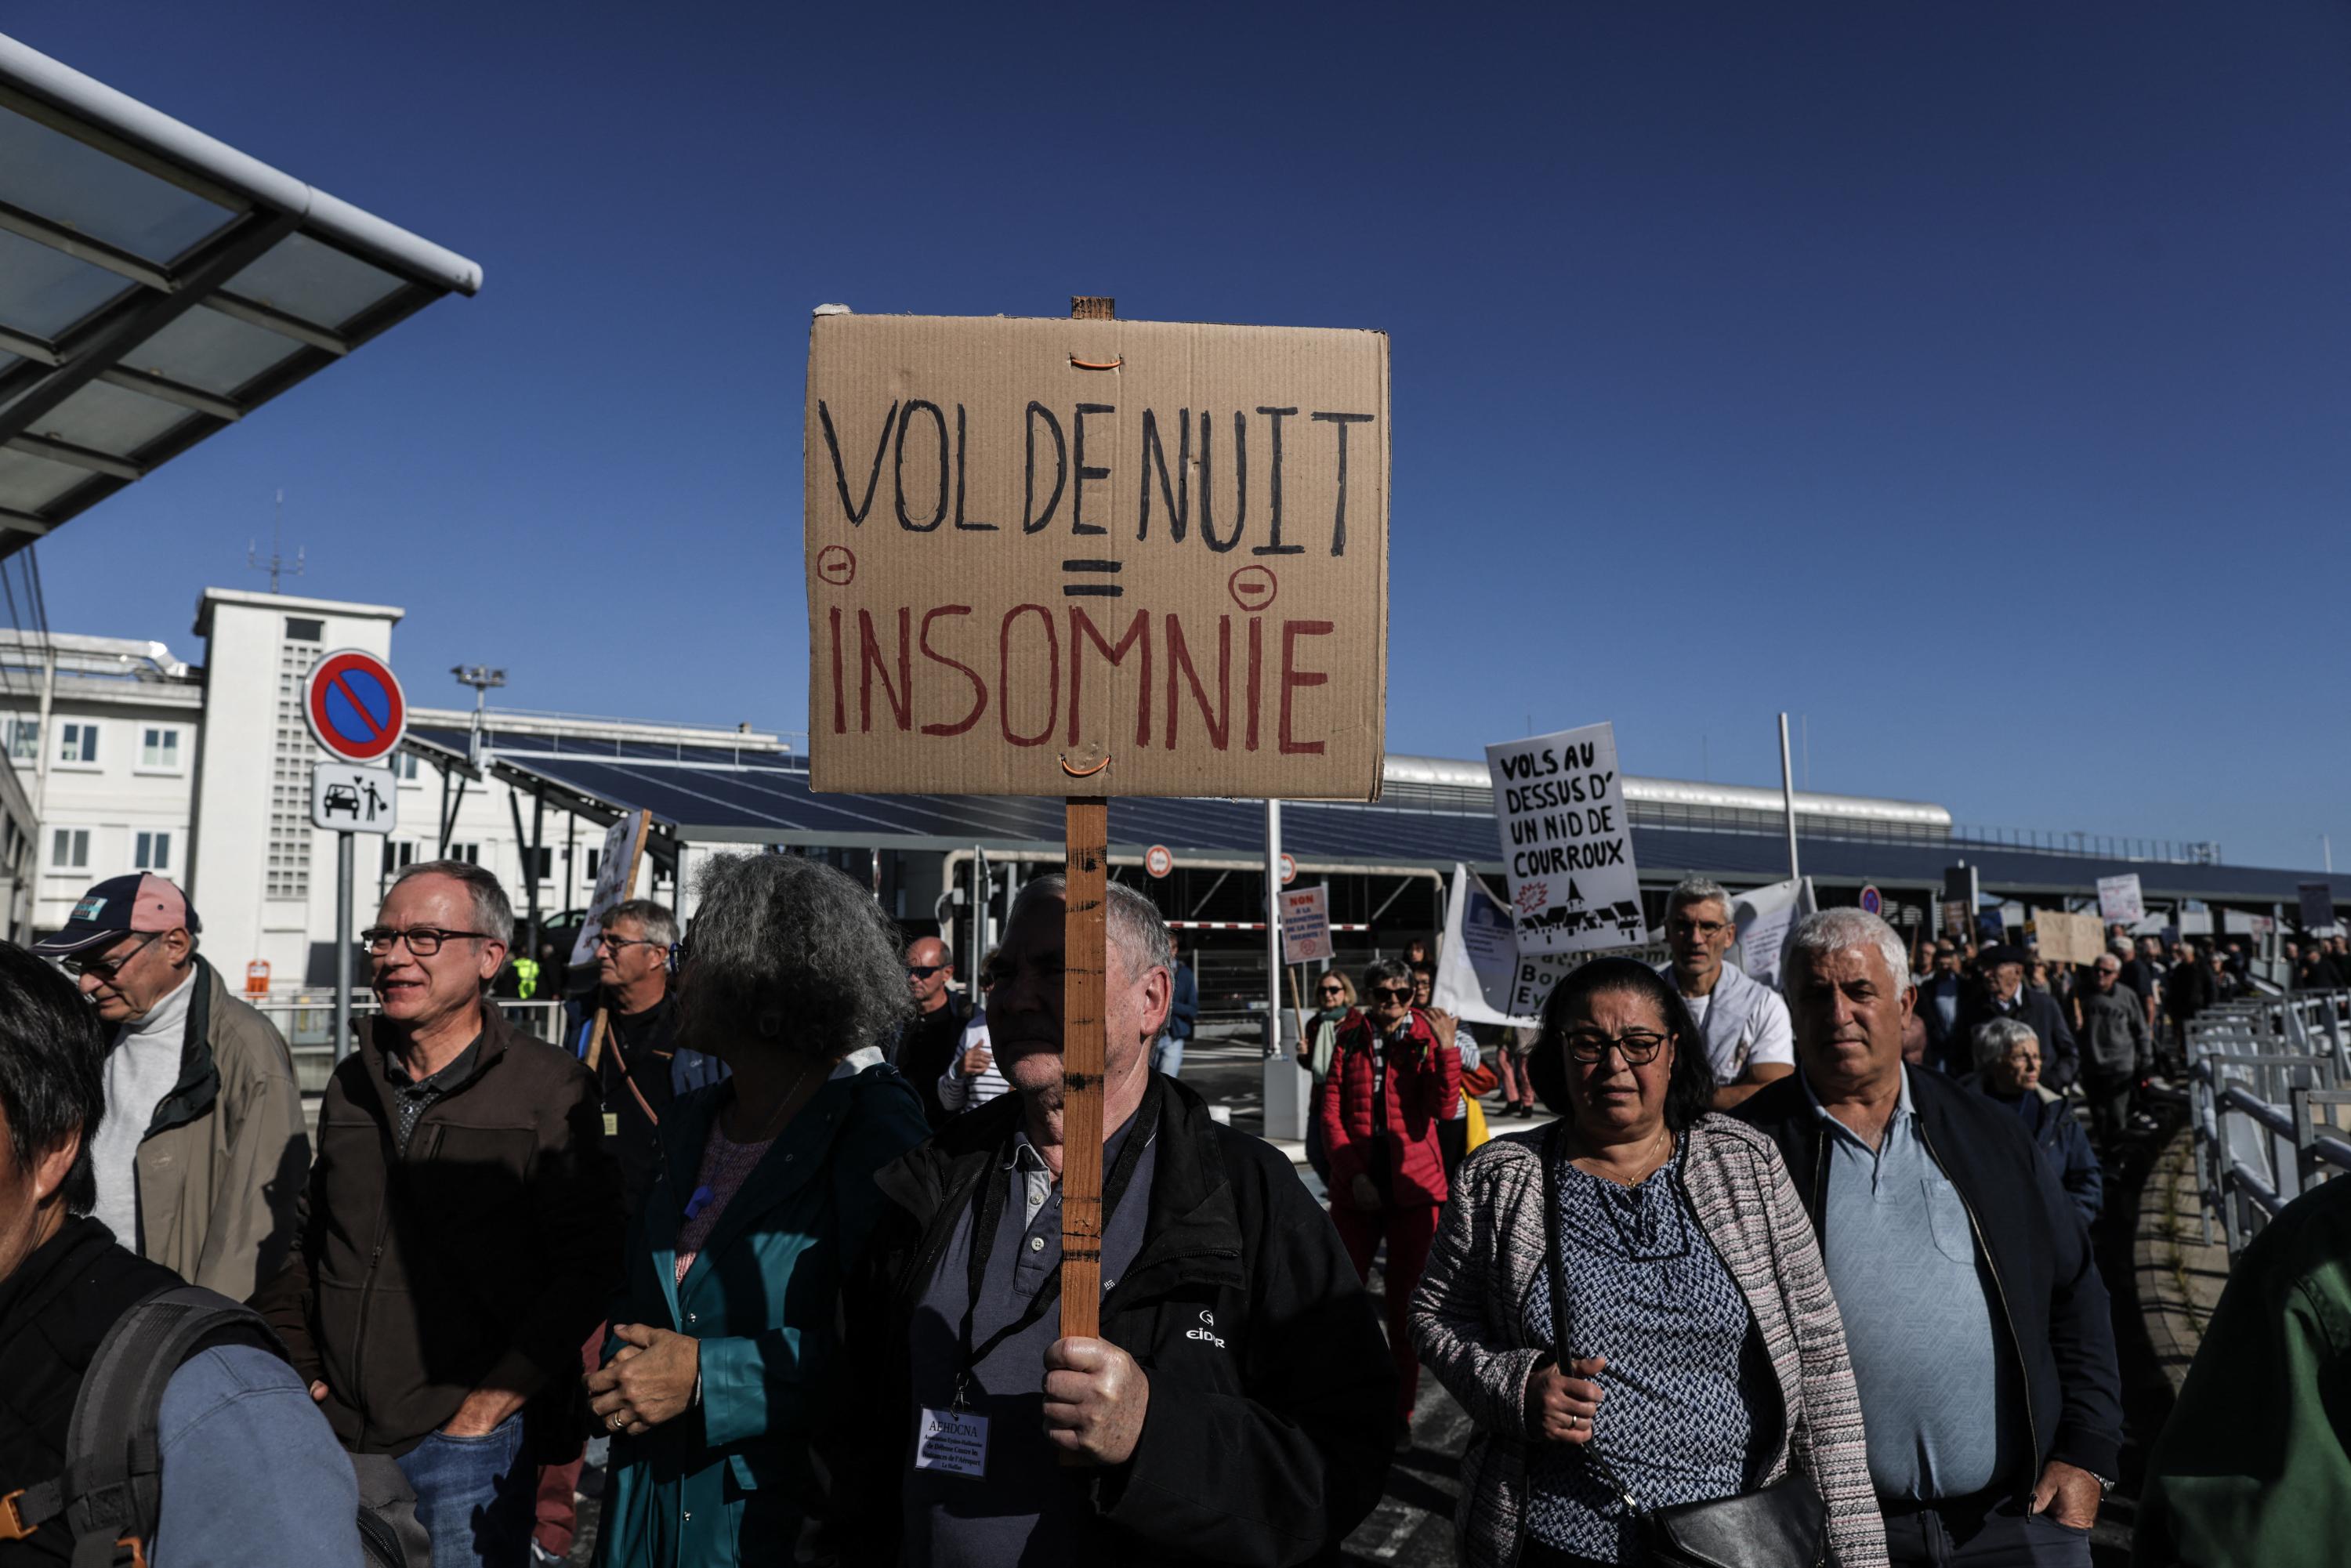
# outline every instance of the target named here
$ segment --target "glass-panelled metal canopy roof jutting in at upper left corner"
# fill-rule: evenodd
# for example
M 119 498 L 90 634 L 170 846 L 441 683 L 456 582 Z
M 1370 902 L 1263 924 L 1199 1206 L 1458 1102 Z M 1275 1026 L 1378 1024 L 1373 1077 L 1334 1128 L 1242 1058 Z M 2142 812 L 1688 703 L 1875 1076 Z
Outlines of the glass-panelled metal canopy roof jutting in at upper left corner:
M 482 268 L 0 35 L 0 557 Z

